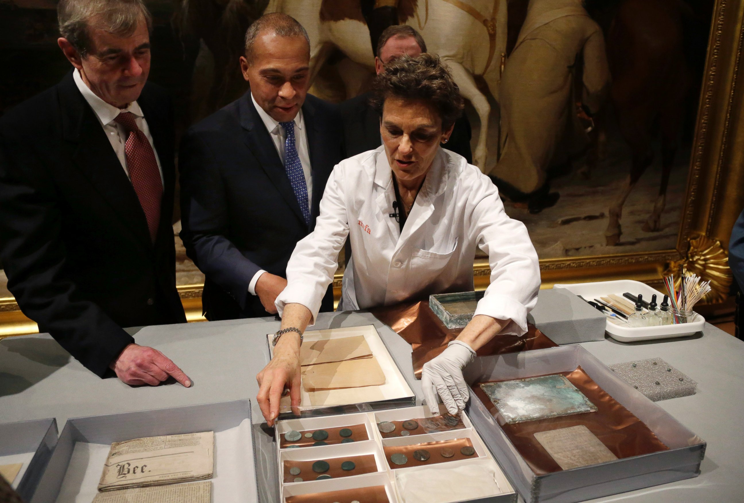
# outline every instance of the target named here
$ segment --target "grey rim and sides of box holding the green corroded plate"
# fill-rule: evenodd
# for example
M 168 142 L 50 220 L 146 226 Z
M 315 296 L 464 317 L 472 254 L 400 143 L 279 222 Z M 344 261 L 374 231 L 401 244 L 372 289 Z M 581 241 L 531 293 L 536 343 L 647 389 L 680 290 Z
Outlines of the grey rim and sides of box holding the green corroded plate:
M 620 379 L 583 347 L 563 346 L 479 356 L 465 371 L 467 382 L 525 379 L 581 367 L 622 406 L 646 423 L 669 450 L 622 458 L 588 467 L 536 475 L 498 426 L 496 418 L 470 393 L 470 420 L 527 503 L 574 503 L 693 478 L 700 474 L 705 441 L 682 426 L 637 389 Z

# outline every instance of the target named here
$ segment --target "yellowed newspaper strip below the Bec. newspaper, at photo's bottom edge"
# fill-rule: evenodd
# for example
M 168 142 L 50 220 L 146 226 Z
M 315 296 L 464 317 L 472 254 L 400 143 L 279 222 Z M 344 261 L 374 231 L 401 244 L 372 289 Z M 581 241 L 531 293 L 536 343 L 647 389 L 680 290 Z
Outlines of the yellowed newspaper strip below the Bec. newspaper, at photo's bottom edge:
M 211 481 L 98 493 L 93 503 L 211 503 Z

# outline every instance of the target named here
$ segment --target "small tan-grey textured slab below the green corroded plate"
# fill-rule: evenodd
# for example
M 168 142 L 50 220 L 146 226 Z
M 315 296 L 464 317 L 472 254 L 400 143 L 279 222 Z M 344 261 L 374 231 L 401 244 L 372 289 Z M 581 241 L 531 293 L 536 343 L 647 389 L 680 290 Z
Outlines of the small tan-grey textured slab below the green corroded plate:
M 563 470 L 618 459 L 583 425 L 537 432 L 535 438 Z

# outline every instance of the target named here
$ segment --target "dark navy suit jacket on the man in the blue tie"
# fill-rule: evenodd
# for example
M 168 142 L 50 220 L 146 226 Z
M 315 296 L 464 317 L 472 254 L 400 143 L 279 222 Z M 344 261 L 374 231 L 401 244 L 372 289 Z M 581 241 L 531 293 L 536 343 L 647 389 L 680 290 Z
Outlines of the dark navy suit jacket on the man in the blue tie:
M 182 140 L 181 237 L 206 276 L 202 304 L 210 320 L 269 315 L 248 284 L 260 269 L 286 278 L 295 245 L 315 227 L 343 134 L 336 106 L 308 94 L 302 112 L 312 167 L 310 226 L 250 92 Z M 330 287 L 321 310 L 333 310 Z

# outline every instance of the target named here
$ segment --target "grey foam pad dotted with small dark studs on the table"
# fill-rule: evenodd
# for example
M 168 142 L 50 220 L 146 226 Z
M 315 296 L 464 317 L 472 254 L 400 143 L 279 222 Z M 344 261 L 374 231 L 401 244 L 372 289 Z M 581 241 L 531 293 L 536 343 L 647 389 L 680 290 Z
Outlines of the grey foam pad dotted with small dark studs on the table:
M 696 392 L 697 382 L 661 358 L 615 363 L 609 368 L 654 402 L 689 397 Z

